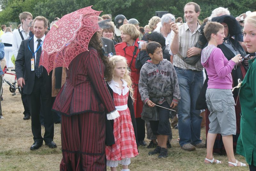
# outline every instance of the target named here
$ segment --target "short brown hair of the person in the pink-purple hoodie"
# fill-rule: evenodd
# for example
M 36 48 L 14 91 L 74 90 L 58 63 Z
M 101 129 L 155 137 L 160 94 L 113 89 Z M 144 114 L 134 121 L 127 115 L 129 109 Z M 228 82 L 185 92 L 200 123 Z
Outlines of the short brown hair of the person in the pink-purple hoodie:
M 224 29 L 224 26 L 218 22 L 209 21 L 208 23 L 206 23 L 206 25 L 204 26 L 204 35 L 207 41 L 211 40 L 212 33 L 217 34 L 220 29 Z

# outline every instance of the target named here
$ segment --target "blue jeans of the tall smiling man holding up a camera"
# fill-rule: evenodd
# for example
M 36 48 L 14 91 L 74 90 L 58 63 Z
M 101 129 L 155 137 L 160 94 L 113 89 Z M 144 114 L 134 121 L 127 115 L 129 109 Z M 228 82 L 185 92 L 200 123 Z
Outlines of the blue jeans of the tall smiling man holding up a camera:
M 203 71 L 184 70 L 174 67 L 177 73 L 181 99 L 178 104 L 178 125 L 180 146 L 201 143 L 200 110 L 196 110 L 196 100 L 203 87 Z

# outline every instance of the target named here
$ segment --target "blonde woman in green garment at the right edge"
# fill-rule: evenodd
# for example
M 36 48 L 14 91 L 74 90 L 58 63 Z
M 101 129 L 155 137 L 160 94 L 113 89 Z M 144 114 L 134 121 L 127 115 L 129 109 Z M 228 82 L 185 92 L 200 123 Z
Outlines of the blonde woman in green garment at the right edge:
M 244 43 L 249 53 L 256 52 L 256 12 L 244 21 Z M 243 155 L 250 170 L 256 170 L 256 60 L 249 60 L 249 70 L 240 87 L 241 127 L 236 153 Z

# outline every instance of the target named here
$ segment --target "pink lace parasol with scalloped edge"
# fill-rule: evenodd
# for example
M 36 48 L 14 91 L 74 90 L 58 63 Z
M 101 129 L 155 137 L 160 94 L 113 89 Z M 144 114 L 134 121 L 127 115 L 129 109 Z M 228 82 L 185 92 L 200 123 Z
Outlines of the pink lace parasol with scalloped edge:
M 39 65 L 48 73 L 56 67 L 68 68 L 78 54 L 88 50 L 92 35 L 100 28 L 98 16 L 102 12 L 91 7 L 63 16 L 47 33 Z

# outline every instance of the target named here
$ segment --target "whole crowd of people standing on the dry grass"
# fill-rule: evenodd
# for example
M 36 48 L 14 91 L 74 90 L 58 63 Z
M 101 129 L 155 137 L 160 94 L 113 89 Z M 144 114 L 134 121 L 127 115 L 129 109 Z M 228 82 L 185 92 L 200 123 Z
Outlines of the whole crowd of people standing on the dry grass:
M 116 171 L 121 164 L 129 171 L 138 146 L 147 145 L 146 130 L 153 148 L 148 155 L 168 157 L 173 127 L 181 149 L 206 148 L 205 163 L 222 163 L 213 158 L 217 152 L 227 154 L 228 166 L 246 166 L 236 160 L 236 149 L 255 170 L 256 12 L 234 17 L 219 7 L 203 22 L 200 12 L 190 2 L 184 22 L 167 13 L 144 27 L 121 14 L 114 22 L 102 15 L 88 51 L 68 70 L 58 67 L 50 74 L 39 60 L 45 35 L 59 18 L 50 25 L 22 12 L 13 33 L 2 25 L 0 60 L 5 58 L 7 69 L 15 67 L 22 87 L 23 119 L 31 117 L 34 139 L 30 150 L 43 142 L 56 148 L 54 123 L 61 122 L 60 170 Z

